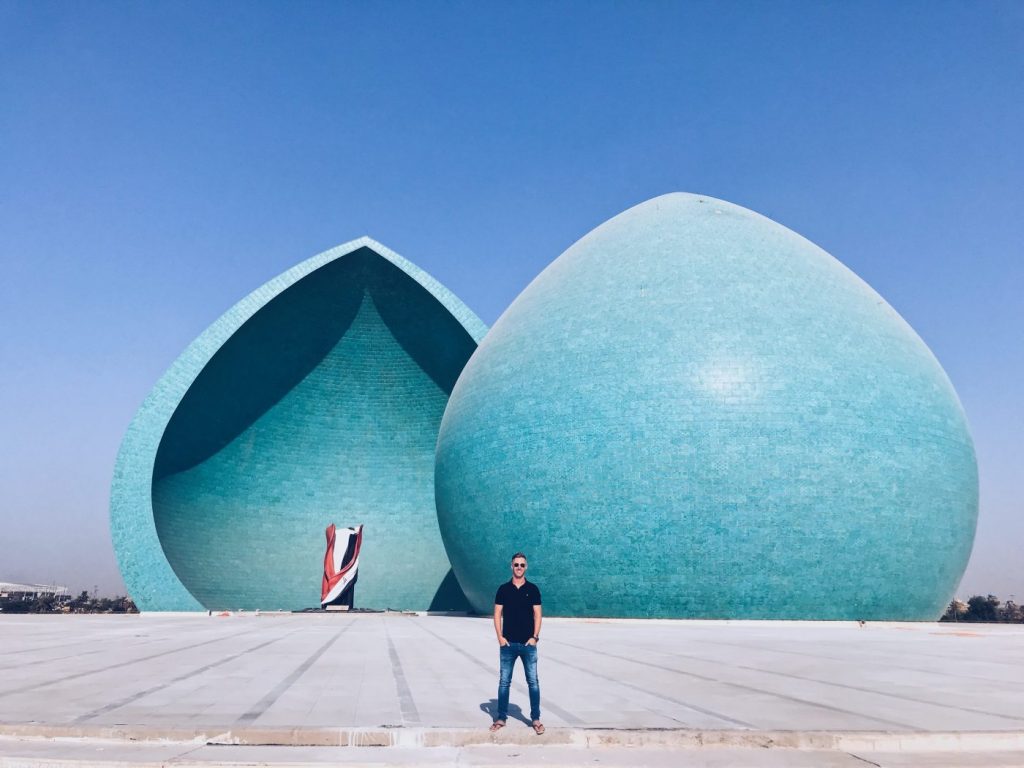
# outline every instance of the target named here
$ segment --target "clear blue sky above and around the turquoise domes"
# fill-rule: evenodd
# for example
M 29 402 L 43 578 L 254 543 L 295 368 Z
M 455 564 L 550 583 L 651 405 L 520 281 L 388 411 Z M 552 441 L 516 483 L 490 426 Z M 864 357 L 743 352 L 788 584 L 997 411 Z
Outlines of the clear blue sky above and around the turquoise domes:
M 961 594 L 1024 600 L 1024 4 L 0 0 L 0 580 L 122 591 L 163 371 L 369 234 L 490 324 L 667 191 L 766 214 L 931 346 L 982 480 Z

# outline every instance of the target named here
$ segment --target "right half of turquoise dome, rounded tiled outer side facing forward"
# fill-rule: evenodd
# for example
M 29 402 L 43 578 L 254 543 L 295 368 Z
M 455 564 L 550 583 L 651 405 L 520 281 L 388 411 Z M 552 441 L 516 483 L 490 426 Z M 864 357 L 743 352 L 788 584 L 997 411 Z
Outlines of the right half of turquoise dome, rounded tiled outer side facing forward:
M 978 510 L 964 412 L 899 314 L 790 229 L 682 194 L 499 318 L 435 494 L 477 610 L 522 550 L 549 613 L 595 616 L 933 620 Z

